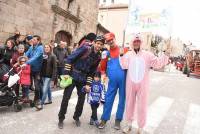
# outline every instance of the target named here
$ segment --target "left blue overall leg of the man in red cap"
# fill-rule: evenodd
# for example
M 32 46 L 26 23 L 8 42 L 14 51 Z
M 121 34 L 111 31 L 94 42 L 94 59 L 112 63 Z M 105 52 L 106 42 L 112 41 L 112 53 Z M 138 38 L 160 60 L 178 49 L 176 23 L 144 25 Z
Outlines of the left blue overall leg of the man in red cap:
M 109 81 L 101 120 L 107 121 L 110 119 L 116 93 L 117 93 L 117 83 L 115 81 Z

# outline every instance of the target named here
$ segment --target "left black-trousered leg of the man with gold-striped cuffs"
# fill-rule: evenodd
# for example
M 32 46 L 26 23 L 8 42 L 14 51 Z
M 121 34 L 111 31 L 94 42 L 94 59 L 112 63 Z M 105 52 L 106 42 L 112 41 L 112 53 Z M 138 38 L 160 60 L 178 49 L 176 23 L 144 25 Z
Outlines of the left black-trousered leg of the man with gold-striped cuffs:
M 60 111 L 59 111 L 59 114 L 58 114 L 59 121 L 63 121 L 65 119 L 65 114 L 66 114 L 66 111 L 67 111 L 68 102 L 69 102 L 69 99 L 71 97 L 71 94 L 72 94 L 74 87 L 75 87 L 75 84 L 73 82 L 69 87 L 67 87 L 64 90 L 64 95 L 63 95 L 63 99 L 62 99 L 62 102 L 61 102 Z

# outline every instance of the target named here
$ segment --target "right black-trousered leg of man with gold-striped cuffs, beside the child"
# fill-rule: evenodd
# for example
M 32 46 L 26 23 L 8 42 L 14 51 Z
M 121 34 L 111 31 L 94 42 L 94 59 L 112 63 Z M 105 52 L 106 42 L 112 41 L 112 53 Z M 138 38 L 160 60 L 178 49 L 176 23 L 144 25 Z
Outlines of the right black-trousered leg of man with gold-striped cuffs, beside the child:
M 79 120 L 79 117 L 81 116 L 83 112 L 83 105 L 85 102 L 85 93 L 81 91 L 81 89 L 83 88 L 82 83 L 76 82 L 76 88 L 77 88 L 77 94 L 78 94 L 78 102 L 76 104 L 76 109 L 75 109 L 73 118 L 74 120 Z

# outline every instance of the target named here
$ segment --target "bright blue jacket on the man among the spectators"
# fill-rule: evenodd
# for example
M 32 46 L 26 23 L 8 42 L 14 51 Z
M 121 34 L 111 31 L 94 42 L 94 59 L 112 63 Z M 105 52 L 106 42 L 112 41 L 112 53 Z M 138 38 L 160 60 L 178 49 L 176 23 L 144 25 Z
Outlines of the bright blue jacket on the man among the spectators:
M 26 56 L 29 58 L 26 63 L 31 65 L 31 71 L 40 72 L 43 61 L 43 45 L 31 46 L 26 52 Z

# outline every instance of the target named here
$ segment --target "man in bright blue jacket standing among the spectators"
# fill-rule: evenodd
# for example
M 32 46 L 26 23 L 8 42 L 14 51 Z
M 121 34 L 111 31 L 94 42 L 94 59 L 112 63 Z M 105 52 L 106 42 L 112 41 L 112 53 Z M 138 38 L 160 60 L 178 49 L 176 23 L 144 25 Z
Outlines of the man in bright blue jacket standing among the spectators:
M 29 58 L 26 64 L 31 65 L 31 77 L 35 85 L 34 103 L 36 108 L 38 108 L 39 100 L 41 99 L 40 72 L 43 61 L 43 46 L 38 35 L 33 36 L 32 41 L 33 45 L 26 52 L 26 56 Z

